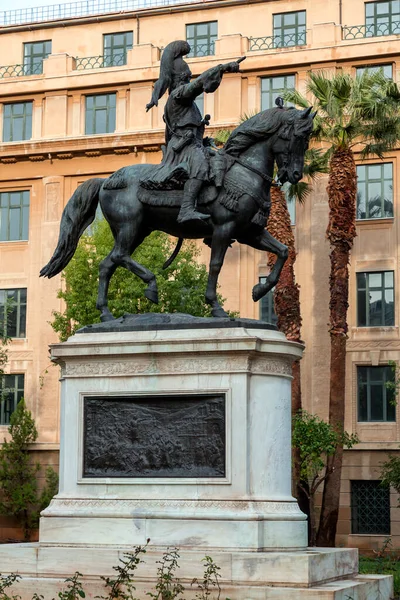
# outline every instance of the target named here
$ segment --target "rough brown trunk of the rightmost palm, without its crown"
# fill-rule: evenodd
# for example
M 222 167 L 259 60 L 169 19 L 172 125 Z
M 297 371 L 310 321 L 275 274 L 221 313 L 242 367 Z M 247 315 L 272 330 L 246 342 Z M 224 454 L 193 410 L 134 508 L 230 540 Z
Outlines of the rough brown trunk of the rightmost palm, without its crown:
M 329 183 L 329 225 L 331 245 L 330 287 L 330 394 L 329 422 L 344 430 L 347 309 L 349 306 L 349 259 L 356 236 L 357 173 L 351 149 L 337 150 L 331 159 Z M 318 546 L 334 546 L 339 516 L 343 446 L 327 465 L 317 536 Z

